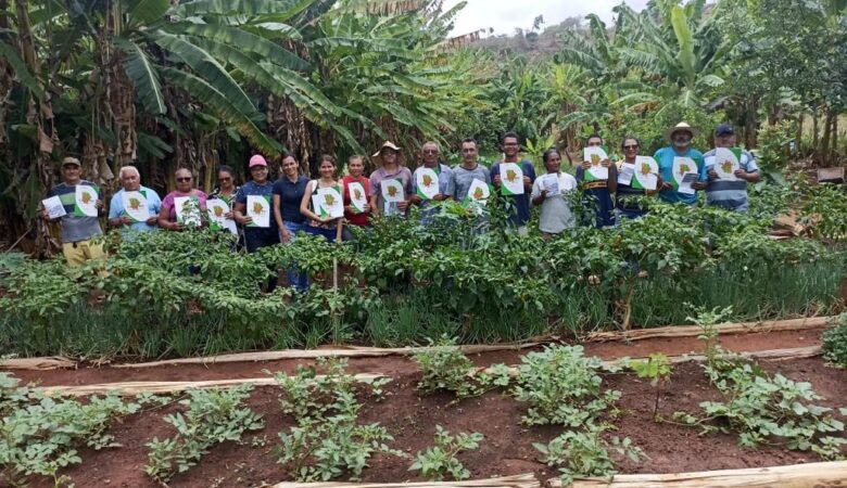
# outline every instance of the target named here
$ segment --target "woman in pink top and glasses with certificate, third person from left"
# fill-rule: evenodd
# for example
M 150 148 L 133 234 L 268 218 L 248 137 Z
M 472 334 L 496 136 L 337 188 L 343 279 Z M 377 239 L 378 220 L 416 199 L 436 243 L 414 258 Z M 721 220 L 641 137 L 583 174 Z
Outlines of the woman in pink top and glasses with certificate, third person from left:
M 179 168 L 174 177 L 177 189 L 162 200 L 159 227 L 172 231 L 181 231 L 189 227 L 205 227 L 206 194 L 194 188 L 194 176 L 190 169 Z

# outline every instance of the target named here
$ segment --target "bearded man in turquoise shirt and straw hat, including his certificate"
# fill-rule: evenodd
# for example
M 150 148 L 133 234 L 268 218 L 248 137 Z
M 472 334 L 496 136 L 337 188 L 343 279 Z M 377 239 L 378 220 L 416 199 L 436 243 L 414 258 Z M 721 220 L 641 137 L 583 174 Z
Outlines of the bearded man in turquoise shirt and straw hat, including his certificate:
M 656 151 L 653 156 L 659 164 L 662 185 L 659 197 L 669 203 L 693 205 L 697 203 L 696 190 L 706 188 L 708 177 L 703 153 L 692 149 L 692 141 L 699 131 L 682 121 L 665 132 L 670 145 Z M 693 174 L 685 177 L 686 174 Z

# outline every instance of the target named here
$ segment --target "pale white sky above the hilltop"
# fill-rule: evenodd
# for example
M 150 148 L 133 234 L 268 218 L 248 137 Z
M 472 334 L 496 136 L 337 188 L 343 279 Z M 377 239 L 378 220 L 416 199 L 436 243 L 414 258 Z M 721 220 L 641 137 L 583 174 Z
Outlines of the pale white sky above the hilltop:
M 477 29 L 494 28 L 494 34 L 514 34 L 516 27 L 532 28 L 532 22 L 539 15 L 544 16 L 546 26 L 589 13 L 596 13 L 606 23 L 611 21 L 611 8 L 620 0 L 467 0 L 468 4 L 456 18 L 454 36 L 468 34 Z M 459 0 L 446 0 L 444 8 L 450 9 Z M 627 4 L 642 10 L 647 0 L 628 0 Z M 543 29 L 544 27 L 542 27 Z

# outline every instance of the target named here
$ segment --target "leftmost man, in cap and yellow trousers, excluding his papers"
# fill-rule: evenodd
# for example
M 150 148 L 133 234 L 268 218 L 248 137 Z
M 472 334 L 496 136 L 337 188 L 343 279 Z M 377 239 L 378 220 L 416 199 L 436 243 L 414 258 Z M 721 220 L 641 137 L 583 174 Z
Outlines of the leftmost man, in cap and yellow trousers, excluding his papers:
M 62 221 L 62 253 L 67 266 L 77 267 L 89 259 L 105 259 L 103 244 L 94 244 L 91 237 L 102 235 L 98 217 L 74 215 L 76 208 L 76 187 L 91 187 L 97 191 L 96 207 L 98 211 L 103 208 L 103 194 L 92 182 L 81 179 L 83 167 L 76 157 L 65 157 L 62 160 L 62 182 L 53 187 L 48 197 L 58 196 L 65 209 L 65 215 L 55 220 Z M 41 217 L 51 221 L 47 210 Z

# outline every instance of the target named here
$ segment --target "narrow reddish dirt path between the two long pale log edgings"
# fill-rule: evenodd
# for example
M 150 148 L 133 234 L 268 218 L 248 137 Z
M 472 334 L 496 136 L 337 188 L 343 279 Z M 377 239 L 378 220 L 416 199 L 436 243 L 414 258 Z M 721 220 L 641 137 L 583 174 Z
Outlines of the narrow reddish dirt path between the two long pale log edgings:
M 722 335 L 720 344 L 729 350 L 755 351 L 781 349 L 789 347 L 813 346 L 821 342 L 821 330 L 784 331 L 771 333 L 750 333 L 738 335 Z M 701 352 L 703 342 L 696 337 L 670 337 L 634 341 L 630 343 L 590 343 L 585 344 L 585 355 L 598 356 L 603 359 L 617 359 L 624 356 L 642 357 L 652 352 L 665 355 L 682 355 Z M 479 367 L 488 367 L 497 362 L 517 364 L 523 351 L 495 351 L 472 355 L 471 359 Z M 309 364 L 307 360 L 282 360 L 262 362 L 230 362 L 219 364 L 179 364 L 143 369 L 115 369 L 109 365 L 84 365 L 77 370 L 25 371 L 12 373 L 23 382 L 35 382 L 41 386 L 55 385 L 90 385 L 98 383 L 143 382 L 143 381 L 205 381 L 224 378 L 264 377 L 263 370 L 274 372 L 295 371 L 298 364 Z M 0 368 L 2 371 L 2 368 Z M 382 373 L 390 376 L 402 375 L 417 371 L 417 365 L 409 357 L 388 356 L 382 358 L 351 358 L 349 371 L 352 373 Z

